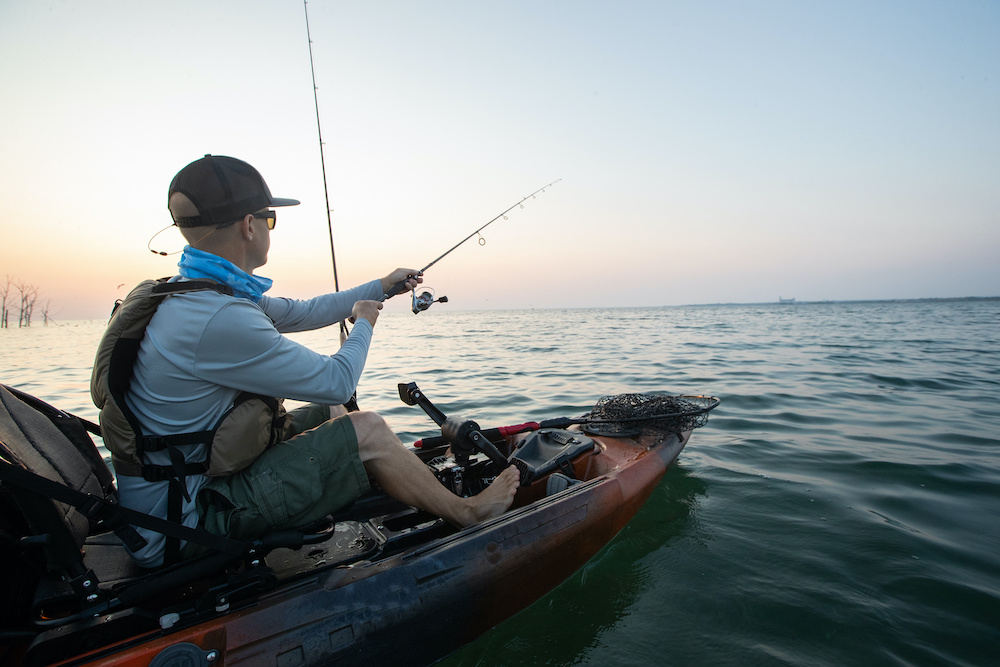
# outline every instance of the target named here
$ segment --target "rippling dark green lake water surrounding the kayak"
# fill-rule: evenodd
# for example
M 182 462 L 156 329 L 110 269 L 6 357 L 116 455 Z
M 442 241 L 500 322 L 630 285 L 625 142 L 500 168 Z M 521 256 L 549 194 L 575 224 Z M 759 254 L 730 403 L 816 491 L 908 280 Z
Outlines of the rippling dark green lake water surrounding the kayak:
M 397 382 L 483 426 L 723 399 L 604 551 L 441 664 L 997 664 L 998 332 L 997 300 L 383 316 L 359 398 L 404 441 Z M 100 333 L 0 331 L 0 381 L 94 419 Z

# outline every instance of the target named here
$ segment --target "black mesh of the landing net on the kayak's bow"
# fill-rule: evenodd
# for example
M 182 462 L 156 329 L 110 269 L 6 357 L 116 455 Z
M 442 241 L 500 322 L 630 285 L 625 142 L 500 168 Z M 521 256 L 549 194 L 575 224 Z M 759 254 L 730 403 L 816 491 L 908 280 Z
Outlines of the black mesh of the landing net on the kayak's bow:
M 683 433 L 704 426 L 718 404 L 710 396 L 605 396 L 590 411 L 585 430 L 604 435 Z

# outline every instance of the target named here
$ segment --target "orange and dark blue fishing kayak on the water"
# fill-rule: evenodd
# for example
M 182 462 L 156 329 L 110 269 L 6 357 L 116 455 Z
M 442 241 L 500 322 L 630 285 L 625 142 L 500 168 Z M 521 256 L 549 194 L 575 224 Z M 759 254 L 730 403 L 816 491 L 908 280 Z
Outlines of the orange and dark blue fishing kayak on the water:
M 445 416 L 415 384 L 401 384 L 401 399 L 441 427 L 440 436 L 414 443 L 413 451 L 442 484 L 473 495 L 502 467 L 518 467 L 521 486 L 508 511 L 458 529 L 376 489 L 294 536 L 262 538 L 238 555 L 217 552 L 139 571 L 119 534 L 134 517 L 114 520 L 120 510 L 106 471 L 95 473 L 103 481 L 87 482 L 102 489 L 84 492 L 95 498 L 89 504 L 55 499 L 57 489 L 40 490 L 47 485 L 36 478 L 62 486 L 71 480 L 32 464 L 25 453 L 26 447 L 54 449 L 48 439 L 26 437 L 33 443 L 19 451 L 11 424 L 24 430 L 30 397 L 8 389 L 0 391 L 0 528 L 8 554 L 2 565 L 23 567 L 25 557 L 47 561 L 37 581 L 24 577 L 34 588 L 30 595 L 14 595 L 0 614 L 0 661 L 21 665 L 433 663 L 596 555 L 642 507 L 692 430 L 719 403 L 626 394 L 624 412 L 621 397 L 607 397 L 580 418 L 481 429 Z M 45 412 L 55 410 L 51 406 L 28 407 L 49 423 L 58 421 Z M 78 444 L 58 446 L 77 447 L 93 465 L 93 452 Z M 43 533 L 37 528 L 43 520 L 30 516 L 32 503 L 46 496 L 51 506 L 71 508 L 60 521 L 70 533 L 85 533 L 76 537 L 79 553 L 54 553 L 63 529 L 50 526 Z M 83 529 L 70 525 L 81 508 L 89 514 Z M 44 546 L 42 535 L 49 540 Z M 21 551 L 20 560 L 8 542 Z M 73 565 L 74 559 L 82 563 Z

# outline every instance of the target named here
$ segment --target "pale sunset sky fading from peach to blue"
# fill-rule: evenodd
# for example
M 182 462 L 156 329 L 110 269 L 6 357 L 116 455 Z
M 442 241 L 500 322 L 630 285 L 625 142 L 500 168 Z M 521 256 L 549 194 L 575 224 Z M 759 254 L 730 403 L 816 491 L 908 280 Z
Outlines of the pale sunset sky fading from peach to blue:
M 435 308 L 1000 295 L 993 0 L 308 16 L 342 288 L 422 268 L 561 179 L 427 272 Z M 55 319 L 176 272 L 147 244 L 206 153 L 302 201 L 257 270 L 270 294 L 333 290 L 302 2 L 0 0 L 0 93 L 0 280 Z

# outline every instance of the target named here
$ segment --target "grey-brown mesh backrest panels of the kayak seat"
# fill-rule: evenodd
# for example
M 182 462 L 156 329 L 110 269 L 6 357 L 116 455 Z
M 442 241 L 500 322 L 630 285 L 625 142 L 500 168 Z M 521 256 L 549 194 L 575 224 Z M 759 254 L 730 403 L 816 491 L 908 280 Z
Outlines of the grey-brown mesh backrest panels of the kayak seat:
M 0 442 L 4 458 L 71 489 L 104 497 L 100 481 L 89 461 L 43 414 L 26 405 L 4 387 L 0 387 Z M 13 459 L 13 460 L 11 460 Z M 79 548 L 90 531 L 90 522 L 69 505 L 41 496 L 13 490 L 32 531 L 52 533 L 60 526 L 51 525 L 52 517 L 69 531 Z M 52 505 L 50 510 L 45 503 Z M 44 525 L 39 525 L 44 524 Z M 64 537 L 64 536 L 60 536 Z

